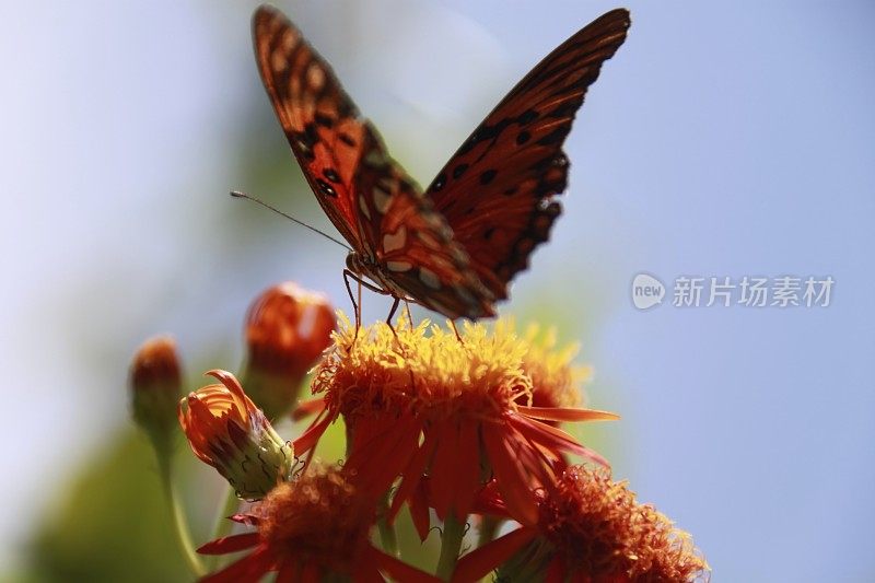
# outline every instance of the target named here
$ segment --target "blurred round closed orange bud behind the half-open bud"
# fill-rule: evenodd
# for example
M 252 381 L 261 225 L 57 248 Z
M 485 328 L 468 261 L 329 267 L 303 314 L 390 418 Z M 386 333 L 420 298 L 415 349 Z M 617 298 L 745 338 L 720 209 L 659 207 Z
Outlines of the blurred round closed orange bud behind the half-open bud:
M 327 298 L 293 282 L 266 290 L 249 306 L 243 378 L 268 419 L 289 412 L 307 371 L 331 343 L 335 325 Z

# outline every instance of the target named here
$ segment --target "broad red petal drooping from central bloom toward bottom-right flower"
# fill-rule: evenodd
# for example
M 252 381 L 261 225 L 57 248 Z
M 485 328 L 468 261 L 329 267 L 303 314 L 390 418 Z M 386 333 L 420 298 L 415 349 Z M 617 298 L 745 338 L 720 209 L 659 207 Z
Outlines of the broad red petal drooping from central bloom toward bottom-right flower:
M 482 428 L 483 444 L 508 510 L 521 523 L 535 524 L 538 509 L 529 489 L 528 477 L 523 474 L 513 448 L 499 434 L 503 428 L 489 424 L 483 424 Z

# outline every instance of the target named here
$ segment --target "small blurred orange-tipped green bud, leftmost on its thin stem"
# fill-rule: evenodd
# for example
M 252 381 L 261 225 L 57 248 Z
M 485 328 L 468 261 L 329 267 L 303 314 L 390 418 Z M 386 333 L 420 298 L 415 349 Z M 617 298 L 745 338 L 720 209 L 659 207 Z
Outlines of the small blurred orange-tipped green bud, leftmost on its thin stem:
M 144 342 L 130 368 L 131 412 L 149 435 L 159 457 L 170 454 L 176 431 L 176 404 L 182 395 L 176 343 L 168 336 Z

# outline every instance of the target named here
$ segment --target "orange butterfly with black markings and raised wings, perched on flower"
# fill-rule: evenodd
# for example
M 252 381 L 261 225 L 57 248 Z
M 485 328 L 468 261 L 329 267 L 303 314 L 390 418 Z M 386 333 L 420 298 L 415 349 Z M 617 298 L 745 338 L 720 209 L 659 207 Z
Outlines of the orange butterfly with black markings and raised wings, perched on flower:
M 494 316 L 561 212 L 562 143 L 629 25 L 627 10 L 612 10 L 550 53 L 423 193 L 301 32 L 277 9 L 258 8 L 258 70 L 307 183 L 350 244 L 348 291 L 349 276 L 392 295 L 393 313 L 408 300 L 451 319 Z

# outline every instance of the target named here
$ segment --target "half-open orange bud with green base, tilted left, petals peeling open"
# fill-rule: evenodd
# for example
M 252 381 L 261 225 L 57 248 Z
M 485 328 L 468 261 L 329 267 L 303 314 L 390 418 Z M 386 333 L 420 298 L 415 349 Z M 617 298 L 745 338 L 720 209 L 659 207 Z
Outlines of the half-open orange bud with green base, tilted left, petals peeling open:
M 291 451 L 233 374 L 218 370 L 207 374 L 222 384 L 184 398 L 179 424 L 195 455 L 219 470 L 238 497 L 259 500 L 288 479 Z

